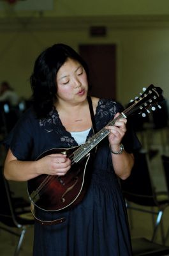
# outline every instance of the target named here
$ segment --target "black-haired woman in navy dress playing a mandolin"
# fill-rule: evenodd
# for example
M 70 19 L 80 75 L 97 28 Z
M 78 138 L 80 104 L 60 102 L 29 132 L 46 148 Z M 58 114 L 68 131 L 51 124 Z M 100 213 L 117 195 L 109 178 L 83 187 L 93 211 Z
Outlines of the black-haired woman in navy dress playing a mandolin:
M 94 123 L 99 131 L 119 115 L 122 106 L 117 102 L 91 97 L 92 121 L 88 76 L 84 60 L 68 45 L 55 44 L 38 56 L 31 76 L 33 108 L 26 111 L 6 141 L 10 148 L 4 164 L 6 179 L 29 182 L 45 174 L 62 182 L 71 172 L 70 157 L 43 152 L 82 145 L 92 137 Z M 40 220 L 64 221 L 57 225 L 35 221 L 33 255 L 132 254 L 118 179 L 129 177 L 133 150 L 140 143 L 130 129 L 126 131 L 126 122 L 126 118 L 117 118 L 114 125 L 106 127 L 109 134 L 98 144 L 89 165 L 89 188 L 77 205 L 61 211 L 35 207 Z

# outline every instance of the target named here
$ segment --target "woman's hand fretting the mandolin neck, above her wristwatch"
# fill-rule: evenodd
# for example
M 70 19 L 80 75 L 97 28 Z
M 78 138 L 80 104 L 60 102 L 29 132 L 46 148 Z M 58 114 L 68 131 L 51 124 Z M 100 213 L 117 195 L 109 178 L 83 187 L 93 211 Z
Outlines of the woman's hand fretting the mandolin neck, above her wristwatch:
M 117 113 L 114 116 L 114 119 L 117 118 L 117 116 L 119 115 L 120 113 Z M 108 140 L 112 150 L 114 151 L 119 150 L 121 140 L 124 137 L 124 134 L 126 133 L 126 123 L 126 118 L 117 118 L 117 121 L 115 121 L 115 124 L 113 126 L 106 127 L 106 129 L 110 130 L 110 133 L 108 134 Z

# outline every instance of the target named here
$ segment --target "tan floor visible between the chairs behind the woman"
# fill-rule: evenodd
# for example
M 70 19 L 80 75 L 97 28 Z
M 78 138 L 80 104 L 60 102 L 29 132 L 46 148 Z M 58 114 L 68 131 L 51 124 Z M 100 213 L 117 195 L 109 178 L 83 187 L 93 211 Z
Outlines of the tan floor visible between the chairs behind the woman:
M 143 147 L 145 149 L 152 148 L 158 149 L 159 153 L 152 159 L 151 161 L 151 172 L 152 178 L 154 179 L 154 186 L 156 189 L 160 191 L 161 189 L 166 189 L 165 179 L 163 176 L 163 167 L 161 164 L 160 156 L 161 154 L 169 155 L 169 138 L 166 136 L 166 131 L 156 131 L 156 132 L 145 132 L 144 134 L 138 134 L 141 140 L 143 140 Z M 143 135 L 143 136 L 142 136 Z M 164 139 L 163 139 L 164 138 Z M 149 139 L 149 140 L 148 140 Z M 2 154 L 2 152 L 1 152 Z M 2 158 L 1 158 L 2 159 Z M 20 191 L 22 191 L 22 195 L 27 198 L 26 191 L 26 183 L 22 182 L 11 182 L 11 189 L 15 191 L 16 195 L 20 195 Z M 163 226 L 165 228 L 165 234 L 169 228 L 169 207 L 166 209 L 165 214 L 163 216 Z M 151 239 L 152 236 L 152 216 L 151 214 L 132 211 L 132 226 L 131 227 L 131 236 L 132 237 L 147 237 Z M 156 241 L 161 243 L 161 232 L 158 230 L 158 236 Z M 0 255 L 1 256 L 11 256 L 14 255 L 15 246 L 17 243 L 17 239 L 0 230 Z M 166 244 L 169 245 L 169 238 L 166 241 Z M 32 255 L 33 250 L 33 227 L 29 228 L 26 232 L 26 236 L 24 237 L 24 241 L 22 244 L 22 249 L 20 251 L 20 256 L 28 256 Z

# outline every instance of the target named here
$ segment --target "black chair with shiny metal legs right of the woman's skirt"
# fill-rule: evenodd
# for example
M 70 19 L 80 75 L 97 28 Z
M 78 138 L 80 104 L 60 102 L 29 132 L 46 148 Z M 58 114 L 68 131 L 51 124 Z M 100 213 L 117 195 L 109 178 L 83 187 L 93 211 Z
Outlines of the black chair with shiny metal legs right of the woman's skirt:
M 150 174 L 149 157 L 146 152 L 138 152 L 135 155 L 135 165 L 131 175 L 128 179 L 121 180 L 121 187 L 128 209 L 151 213 L 153 217 L 157 216 L 151 238 L 151 241 L 154 242 L 163 212 L 169 205 L 169 199 L 165 191 L 156 192 L 154 188 Z M 134 203 L 135 206 L 131 203 Z M 155 207 L 157 211 L 154 210 Z M 162 241 L 165 243 L 163 226 L 161 226 L 161 235 Z

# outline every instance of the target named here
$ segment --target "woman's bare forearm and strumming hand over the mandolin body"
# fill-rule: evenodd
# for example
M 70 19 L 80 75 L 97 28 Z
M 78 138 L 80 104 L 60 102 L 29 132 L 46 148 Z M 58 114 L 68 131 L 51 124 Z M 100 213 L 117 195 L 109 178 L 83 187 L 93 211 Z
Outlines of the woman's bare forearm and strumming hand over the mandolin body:
M 50 154 L 37 161 L 20 161 L 11 150 L 4 163 L 4 177 L 7 180 L 27 181 L 41 174 L 65 175 L 71 168 L 71 161 L 63 154 Z

